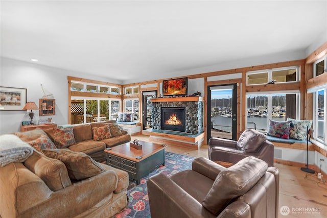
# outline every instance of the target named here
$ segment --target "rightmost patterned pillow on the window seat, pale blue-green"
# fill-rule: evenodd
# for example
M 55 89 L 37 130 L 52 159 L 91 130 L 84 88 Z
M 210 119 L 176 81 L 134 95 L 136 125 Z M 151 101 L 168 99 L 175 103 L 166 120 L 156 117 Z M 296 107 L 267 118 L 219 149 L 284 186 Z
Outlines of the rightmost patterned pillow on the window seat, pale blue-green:
M 288 117 L 286 121 L 292 122 L 290 128 L 290 138 L 297 140 L 307 139 L 307 127 L 308 130 L 311 128 L 312 119 L 300 120 Z

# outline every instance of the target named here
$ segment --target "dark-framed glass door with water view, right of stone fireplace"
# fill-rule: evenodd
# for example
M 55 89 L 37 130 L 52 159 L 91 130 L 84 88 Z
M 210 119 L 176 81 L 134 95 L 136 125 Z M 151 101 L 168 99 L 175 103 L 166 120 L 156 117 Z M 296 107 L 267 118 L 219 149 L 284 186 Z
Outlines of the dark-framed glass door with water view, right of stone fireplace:
M 236 140 L 237 84 L 208 86 L 207 138 Z

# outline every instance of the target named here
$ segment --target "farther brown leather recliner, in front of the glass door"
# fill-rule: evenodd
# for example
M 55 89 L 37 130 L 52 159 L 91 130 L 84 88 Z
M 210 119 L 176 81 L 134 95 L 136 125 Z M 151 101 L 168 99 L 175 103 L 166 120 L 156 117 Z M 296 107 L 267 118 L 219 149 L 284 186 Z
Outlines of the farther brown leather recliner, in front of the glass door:
M 238 141 L 210 138 L 208 157 L 213 161 L 237 163 L 245 157 L 253 156 L 274 165 L 274 145 L 267 140 L 265 134 L 256 130 L 245 130 Z

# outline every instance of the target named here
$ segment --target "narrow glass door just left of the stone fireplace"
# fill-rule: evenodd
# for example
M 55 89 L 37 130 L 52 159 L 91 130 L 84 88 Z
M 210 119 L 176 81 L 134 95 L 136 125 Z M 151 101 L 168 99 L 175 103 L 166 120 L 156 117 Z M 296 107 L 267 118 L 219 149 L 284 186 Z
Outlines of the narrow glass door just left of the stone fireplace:
M 156 98 L 157 91 L 143 92 L 143 130 L 152 128 L 152 103 L 151 99 Z

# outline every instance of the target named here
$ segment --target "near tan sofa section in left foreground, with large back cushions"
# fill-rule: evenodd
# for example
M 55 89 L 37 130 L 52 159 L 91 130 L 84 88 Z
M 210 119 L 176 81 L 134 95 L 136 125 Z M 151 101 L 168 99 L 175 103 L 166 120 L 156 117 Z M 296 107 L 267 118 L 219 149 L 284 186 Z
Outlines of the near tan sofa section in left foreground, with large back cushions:
M 68 149 L 42 152 L 0 167 L 0 217 L 112 217 L 127 206 L 126 172 Z

